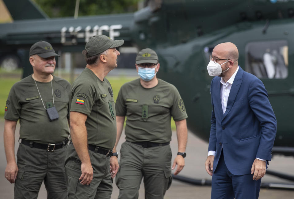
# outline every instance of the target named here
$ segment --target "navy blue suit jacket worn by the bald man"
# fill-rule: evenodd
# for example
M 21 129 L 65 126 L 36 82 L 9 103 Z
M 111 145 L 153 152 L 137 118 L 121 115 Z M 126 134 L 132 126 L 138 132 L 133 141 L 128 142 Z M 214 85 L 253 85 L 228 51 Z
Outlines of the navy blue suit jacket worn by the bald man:
M 250 174 L 256 157 L 271 160 L 277 120 L 262 81 L 240 66 L 223 114 L 220 79 L 214 77 L 210 87 L 212 114 L 208 151 L 216 151 L 213 172 L 223 147 L 228 170 L 234 175 Z

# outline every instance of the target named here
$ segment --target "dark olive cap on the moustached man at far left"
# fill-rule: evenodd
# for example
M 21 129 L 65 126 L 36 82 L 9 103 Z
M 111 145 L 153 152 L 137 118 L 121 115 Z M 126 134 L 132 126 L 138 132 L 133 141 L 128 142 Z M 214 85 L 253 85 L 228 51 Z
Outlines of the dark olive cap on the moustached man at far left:
M 58 56 L 51 44 L 45 41 L 39 41 L 34 43 L 30 48 L 30 56 L 39 55 L 40 57 L 47 58 L 52 56 Z

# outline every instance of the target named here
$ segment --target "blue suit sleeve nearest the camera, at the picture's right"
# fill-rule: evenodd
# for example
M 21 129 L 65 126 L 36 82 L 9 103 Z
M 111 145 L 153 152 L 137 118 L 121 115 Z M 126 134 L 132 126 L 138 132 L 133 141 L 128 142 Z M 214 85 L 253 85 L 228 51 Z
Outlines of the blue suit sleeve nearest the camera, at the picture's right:
M 248 101 L 261 126 L 261 138 L 256 157 L 270 161 L 277 133 L 277 120 L 269 103 L 267 91 L 260 79 L 250 83 Z

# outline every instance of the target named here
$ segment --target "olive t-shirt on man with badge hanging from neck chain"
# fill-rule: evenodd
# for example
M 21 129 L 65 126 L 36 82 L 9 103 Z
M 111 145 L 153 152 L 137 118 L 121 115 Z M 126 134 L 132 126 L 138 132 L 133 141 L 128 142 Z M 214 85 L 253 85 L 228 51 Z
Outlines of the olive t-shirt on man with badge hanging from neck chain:
M 38 93 L 36 84 L 40 91 Z M 50 82 L 37 82 L 32 75 L 15 83 L 6 101 L 4 118 L 20 123 L 20 139 L 39 143 L 59 143 L 68 137 L 68 94 L 71 84 L 59 77 L 53 76 Z M 50 121 L 42 104 L 46 108 L 53 106 L 52 88 L 55 108 L 59 118 Z

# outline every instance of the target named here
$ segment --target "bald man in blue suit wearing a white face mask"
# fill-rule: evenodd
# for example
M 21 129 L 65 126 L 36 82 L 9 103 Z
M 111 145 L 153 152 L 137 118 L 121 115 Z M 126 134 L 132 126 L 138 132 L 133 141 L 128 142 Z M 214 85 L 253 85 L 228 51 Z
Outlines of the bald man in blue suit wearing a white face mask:
M 211 129 L 205 169 L 211 198 L 258 198 L 277 132 L 277 120 L 261 80 L 238 65 L 231 43 L 210 56 Z

